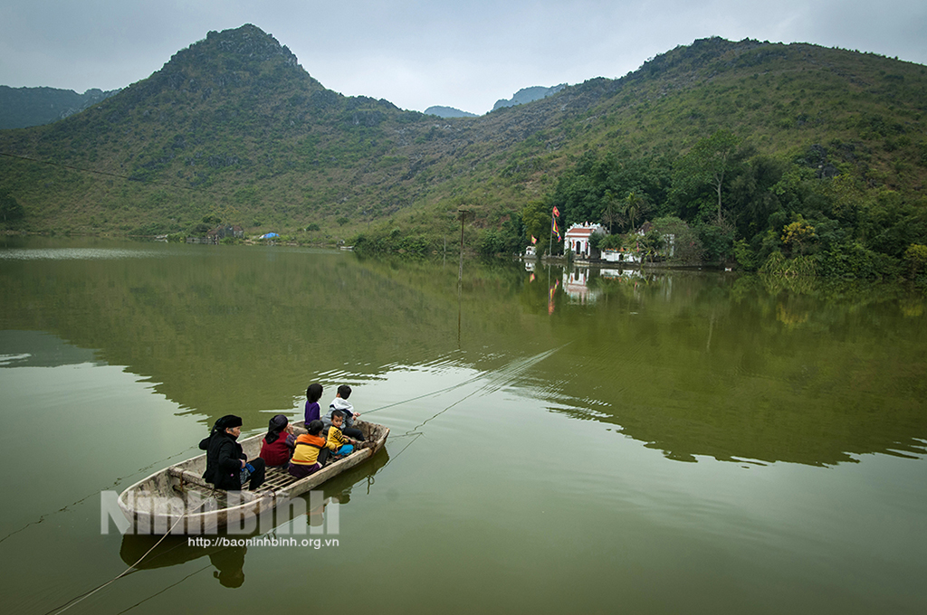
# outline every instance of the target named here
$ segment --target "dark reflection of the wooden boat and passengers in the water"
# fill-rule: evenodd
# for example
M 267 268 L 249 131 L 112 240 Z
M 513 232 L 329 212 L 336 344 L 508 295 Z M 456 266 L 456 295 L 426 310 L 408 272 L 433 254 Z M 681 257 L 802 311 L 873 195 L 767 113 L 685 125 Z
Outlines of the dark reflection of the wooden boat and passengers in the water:
M 348 504 L 351 491 L 355 487 L 366 488 L 369 493 L 370 487 L 375 482 L 376 472 L 380 471 L 388 462 L 389 454 L 384 448 L 369 463 L 365 463 L 351 471 L 343 472 L 338 476 L 337 480 L 325 483 L 323 487 L 324 500 L 314 508 L 307 508 L 305 522 L 308 527 L 305 528 L 306 533 L 294 531 L 293 534 L 298 539 L 308 537 L 309 532 L 311 532 L 310 528 L 317 528 L 324 524 L 325 508 L 329 502 L 337 502 L 339 506 Z M 298 497 L 308 499 L 308 495 Z M 295 521 L 295 519 L 288 517 L 276 519 L 278 526 L 288 521 Z M 212 575 L 219 580 L 219 583 L 226 587 L 239 587 L 245 583 L 245 556 L 248 554 L 248 546 L 242 544 L 243 539 L 253 538 L 256 535 L 258 533 L 254 532 L 249 535 L 233 534 L 224 536 L 219 534 L 206 537 L 206 541 L 211 541 L 206 544 L 191 545 L 190 541 L 194 539 L 187 536 L 126 533 L 122 536 L 119 554 L 127 566 L 133 566 L 133 568 L 140 571 L 169 568 L 195 559 L 209 557 L 210 563 L 216 569 Z M 222 538 L 229 538 L 230 540 L 223 544 Z

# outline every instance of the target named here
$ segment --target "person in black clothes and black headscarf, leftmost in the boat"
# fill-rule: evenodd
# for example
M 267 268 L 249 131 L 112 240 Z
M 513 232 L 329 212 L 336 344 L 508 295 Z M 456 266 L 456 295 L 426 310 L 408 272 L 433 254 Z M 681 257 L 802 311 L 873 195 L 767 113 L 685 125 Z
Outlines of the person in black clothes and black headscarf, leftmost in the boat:
M 241 417 L 227 414 L 212 426 L 210 435 L 204 438 L 199 447 L 206 451 L 206 471 L 203 480 L 212 483 L 216 489 L 240 491 L 242 485 L 249 481 L 251 490 L 264 482 L 264 460 L 248 457 L 238 444 L 241 435 Z

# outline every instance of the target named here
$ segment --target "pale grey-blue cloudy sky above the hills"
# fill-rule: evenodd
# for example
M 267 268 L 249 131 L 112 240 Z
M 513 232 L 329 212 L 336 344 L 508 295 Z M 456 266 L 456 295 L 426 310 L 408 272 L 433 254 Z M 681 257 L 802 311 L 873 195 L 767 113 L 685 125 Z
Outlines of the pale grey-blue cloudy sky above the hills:
M 245 23 L 325 87 L 419 111 L 485 113 L 523 87 L 620 77 L 708 36 L 927 64 L 924 0 L 0 0 L 0 84 L 116 89 Z

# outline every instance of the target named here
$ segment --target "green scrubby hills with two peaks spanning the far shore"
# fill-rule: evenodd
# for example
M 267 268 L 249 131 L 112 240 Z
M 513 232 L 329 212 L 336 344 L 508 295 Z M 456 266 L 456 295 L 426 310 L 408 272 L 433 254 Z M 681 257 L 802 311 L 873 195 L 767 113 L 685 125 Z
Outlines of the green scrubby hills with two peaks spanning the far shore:
M 470 244 L 492 252 L 524 245 L 556 204 L 563 224 L 607 220 L 616 234 L 679 220 L 699 257 L 744 266 L 839 246 L 900 263 L 927 243 L 925 70 L 705 39 L 620 79 L 436 119 L 327 90 L 246 25 L 82 113 L 0 132 L 0 223 L 155 234 L 221 220 L 427 252 L 463 206 Z M 792 223 L 803 239 L 777 245 Z

